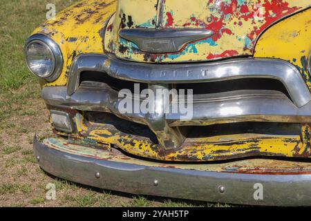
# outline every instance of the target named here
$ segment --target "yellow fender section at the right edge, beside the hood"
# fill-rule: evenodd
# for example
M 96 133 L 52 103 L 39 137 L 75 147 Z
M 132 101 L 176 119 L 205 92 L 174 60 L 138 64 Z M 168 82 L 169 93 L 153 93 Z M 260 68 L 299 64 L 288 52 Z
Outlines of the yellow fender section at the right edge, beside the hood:
M 296 66 L 311 88 L 308 59 L 311 55 L 311 9 L 268 29 L 256 44 L 254 57 L 278 58 Z

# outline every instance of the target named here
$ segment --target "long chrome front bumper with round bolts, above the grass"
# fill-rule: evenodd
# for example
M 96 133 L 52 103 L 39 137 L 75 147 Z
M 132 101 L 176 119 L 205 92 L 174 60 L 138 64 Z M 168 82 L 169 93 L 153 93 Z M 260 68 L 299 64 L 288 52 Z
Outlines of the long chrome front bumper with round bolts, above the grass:
M 311 164 L 243 160 L 221 164 L 165 164 L 114 149 L 34 140 L 44 171 L 80 184 L 166 198 L 265 206 L 310 206 Z M 261 186 L 263 199 L 256 198 Z M 255 195 L 255 197 L 254 197 Z

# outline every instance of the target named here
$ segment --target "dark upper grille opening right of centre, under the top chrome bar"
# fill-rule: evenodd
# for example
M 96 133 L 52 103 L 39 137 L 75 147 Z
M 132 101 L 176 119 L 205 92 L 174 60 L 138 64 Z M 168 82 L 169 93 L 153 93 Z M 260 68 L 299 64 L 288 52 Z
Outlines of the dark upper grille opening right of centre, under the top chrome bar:
M 277 79 L 243 78 L 194 84 L 176 84 L 176 89 L 192 89 L 194 95 L 222 93 L 232 90 L 277 90 L 290 98 L 288 90 Z

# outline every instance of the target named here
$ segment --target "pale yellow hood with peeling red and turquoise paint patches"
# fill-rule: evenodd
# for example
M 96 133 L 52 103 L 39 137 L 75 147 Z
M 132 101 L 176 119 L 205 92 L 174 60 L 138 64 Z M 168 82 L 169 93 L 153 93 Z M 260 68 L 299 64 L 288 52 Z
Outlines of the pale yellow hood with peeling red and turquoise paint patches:
M 104 47 L 121 59 L 154 63 L 250 56 L 267 27 L 310 4 L 310 0 L 120 0 L 107 24 Z M 120 37 L 121 30 L 138 28 L 209 30 L 213 35 L 194 38 L 178 51 L 155 52 Z

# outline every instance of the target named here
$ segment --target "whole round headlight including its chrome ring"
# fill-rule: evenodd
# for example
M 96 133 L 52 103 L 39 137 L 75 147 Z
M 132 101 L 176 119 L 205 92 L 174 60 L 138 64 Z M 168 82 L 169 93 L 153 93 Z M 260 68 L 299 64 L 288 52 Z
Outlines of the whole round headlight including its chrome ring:
M 25 46 L 26 64 L 37 77 L 55 80 L 62 71 L 62 52 L 57 44 L 45 35 L 32 35 Z

